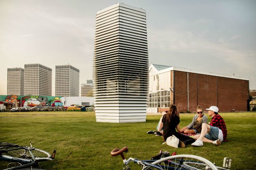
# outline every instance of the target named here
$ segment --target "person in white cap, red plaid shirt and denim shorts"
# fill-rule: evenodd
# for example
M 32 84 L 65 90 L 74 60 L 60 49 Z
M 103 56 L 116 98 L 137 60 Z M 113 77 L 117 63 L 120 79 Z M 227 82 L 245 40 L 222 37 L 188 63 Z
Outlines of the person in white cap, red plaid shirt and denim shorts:
M 211 122 L 208 124 L 202 124 L 202 130 L 200 135 L 195 135 L 194 139 L 197 139 L 191 145 L 193 146 L 203 146 L 203 142 L 210 142 L 213 144 L 220 145 L 223 140 L 227 138 L 228 131 L 226 128 L 225 121 L 218 115 L 218 107 L 211 106 L 208 111 L 208 115 L 211 116 Z

